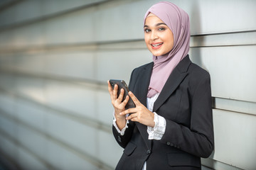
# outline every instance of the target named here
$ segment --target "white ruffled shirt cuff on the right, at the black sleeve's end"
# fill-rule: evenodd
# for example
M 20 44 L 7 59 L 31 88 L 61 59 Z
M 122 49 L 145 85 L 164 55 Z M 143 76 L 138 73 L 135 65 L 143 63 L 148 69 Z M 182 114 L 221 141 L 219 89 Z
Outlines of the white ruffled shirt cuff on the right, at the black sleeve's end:
M 161 115 L 154 112 L 154 128 L 148 126 L 149 140 L 161 140 L 166 130 L 166 120 Z

